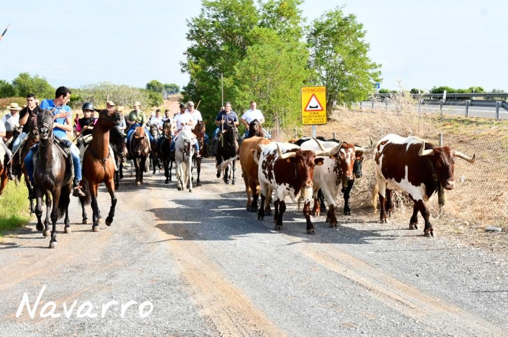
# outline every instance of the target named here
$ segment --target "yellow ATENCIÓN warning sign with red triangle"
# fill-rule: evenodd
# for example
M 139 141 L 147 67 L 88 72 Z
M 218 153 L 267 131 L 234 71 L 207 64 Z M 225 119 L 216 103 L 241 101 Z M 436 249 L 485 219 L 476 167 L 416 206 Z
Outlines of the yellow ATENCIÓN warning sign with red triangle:
M 326 124 L 326 87 L 302 87 L 302 125 Z

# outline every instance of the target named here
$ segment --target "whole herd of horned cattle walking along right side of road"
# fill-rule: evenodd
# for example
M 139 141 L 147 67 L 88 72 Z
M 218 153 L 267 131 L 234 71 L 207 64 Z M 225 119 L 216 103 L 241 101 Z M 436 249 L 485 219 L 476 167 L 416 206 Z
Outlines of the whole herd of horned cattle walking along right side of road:
M 475 155 L 468 157 L 449 146 L 434 146 L 418 137 L 389 134 L 369 147 L 341 140 L 323 138 L 293 139 L 287 143 L 252 137 L 245 139 L 239 151 L 242 175 L 247 194 L 247 210 L 258 212 L 258 219 L 271 213 L 270 201 L 274 192 L 275 230 L 282 228 L 286 209 L 285 197 L 293 202 L 303 201 L 307 233 L 315 233 L 310 220 L 320 213 L 320 196 L 328 203 L 327 222 L 337 226 L 336 199 L 344 194 L 344 214 L 350 215 L 348 205 L 355 177 L 361 177 L 364 155 L 372 154 L 375 166 L 375 190 L 380 201 L 380 220 L 387 222 L 393 210 L 392 190 L 407 192 L 414 202 L 409 229 L 418 229 L 418 212 L 425 221 L 424 235 L 433 236 L 429 210 L 425 206 L 433 193 L 455 185 L 455 158 L 474 163 Z M 258 200 L 261 194 L 261 201 Z

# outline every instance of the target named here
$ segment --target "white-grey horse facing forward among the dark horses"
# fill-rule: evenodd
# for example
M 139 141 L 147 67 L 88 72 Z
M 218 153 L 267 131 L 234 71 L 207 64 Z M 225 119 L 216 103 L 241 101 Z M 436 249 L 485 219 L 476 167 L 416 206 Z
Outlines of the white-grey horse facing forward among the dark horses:
M 176 136 L 175 163 L 178 191 L 186 188 L 188 183 L 189 192 L 192 192 L 192 157 L 194 156 L 194 143 L 196 141 L 196 136 L 188 130 L 182 130 Z

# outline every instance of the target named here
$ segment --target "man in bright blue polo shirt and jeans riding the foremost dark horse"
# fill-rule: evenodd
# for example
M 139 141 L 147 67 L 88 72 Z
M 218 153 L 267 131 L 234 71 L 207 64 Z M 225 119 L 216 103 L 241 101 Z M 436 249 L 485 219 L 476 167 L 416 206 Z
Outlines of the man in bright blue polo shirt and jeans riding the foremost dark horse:
M 72 163 L 74 166 L 74 180 L 73 180 L 73 196 L 85 197 L 79 182 L 81 181 L 81 162 L 79 160 L 79 149 L 74 143 L 71 143 L 67 139 L 67 132 L 72 131 L 71 122 L 71 108 L 66 105 L 71 98 L 71 90 L 66 87 L 58 87 L 55 92 L 54 99 L 44 99 L 41 102 L 41 109 L 47 109 L 53 111 L 53 135 L 61 143 L 69 147 L 71 150 Z M 37 151 L 39 144 L 36 144 L 30 148 L 30 151 L 25 157 L 25 168 L 28 173 L 28 179 L 31 183 L 34 183 L 34 152 Z M 35 189 L 33 189 L 28 196 L 28 199 L 35 199 Z

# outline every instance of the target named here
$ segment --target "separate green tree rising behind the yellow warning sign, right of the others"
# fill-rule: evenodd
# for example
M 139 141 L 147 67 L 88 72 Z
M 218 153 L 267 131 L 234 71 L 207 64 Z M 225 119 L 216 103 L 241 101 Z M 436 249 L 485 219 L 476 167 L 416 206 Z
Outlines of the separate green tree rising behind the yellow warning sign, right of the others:
M 381 81 L 380 65 L 367 56 L 369 44 L 364 38 L 363 25 L 341 8 L 315 19 L 308 30 L 309 67 L 313 82 L 327 87 L 328 111 L 334 101 L 351 104 L 364 99 L 374 91 L 372 83 Z

